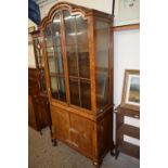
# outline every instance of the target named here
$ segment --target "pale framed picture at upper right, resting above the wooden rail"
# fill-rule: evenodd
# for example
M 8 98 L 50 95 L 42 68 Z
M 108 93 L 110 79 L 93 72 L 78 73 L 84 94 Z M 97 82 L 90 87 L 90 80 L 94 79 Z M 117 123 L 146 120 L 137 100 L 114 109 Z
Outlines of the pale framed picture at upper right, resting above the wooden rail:
M 140 23 L 140 0 L 115 0 L 114 26 Z

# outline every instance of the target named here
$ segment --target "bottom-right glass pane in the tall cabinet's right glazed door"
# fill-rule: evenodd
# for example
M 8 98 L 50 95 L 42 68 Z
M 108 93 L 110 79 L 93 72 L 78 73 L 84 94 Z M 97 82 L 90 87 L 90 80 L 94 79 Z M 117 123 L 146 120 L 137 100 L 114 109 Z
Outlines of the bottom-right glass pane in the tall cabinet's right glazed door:
M 81 89 L 81 106 L 91 109 L 90 81 L 80 80 L 80 89 Z

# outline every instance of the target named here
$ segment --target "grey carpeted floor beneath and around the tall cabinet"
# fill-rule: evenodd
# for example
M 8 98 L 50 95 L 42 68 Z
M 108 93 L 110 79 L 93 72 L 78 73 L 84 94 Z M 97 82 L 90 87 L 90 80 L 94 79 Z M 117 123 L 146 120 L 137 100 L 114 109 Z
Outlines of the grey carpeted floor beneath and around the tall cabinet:
M 94 168 L 92 161 L 63 144 L 52 146 L 49 129 L 42 130 L 42 135 L 28 128 L 28 168 Z M 140 168 L 140 161 L 125 154 L 118 159 L 109 155 L 103 159 L 101 168 Z

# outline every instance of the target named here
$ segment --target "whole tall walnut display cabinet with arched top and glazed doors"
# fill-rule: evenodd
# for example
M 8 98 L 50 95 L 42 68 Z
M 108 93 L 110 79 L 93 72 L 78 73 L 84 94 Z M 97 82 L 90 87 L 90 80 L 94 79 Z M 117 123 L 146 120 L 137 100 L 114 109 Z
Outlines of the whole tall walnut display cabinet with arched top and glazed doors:
M 113 150 L 112 15 L 56 3 L 41 22 L 44 68 L 56 139 L 99 167 Z

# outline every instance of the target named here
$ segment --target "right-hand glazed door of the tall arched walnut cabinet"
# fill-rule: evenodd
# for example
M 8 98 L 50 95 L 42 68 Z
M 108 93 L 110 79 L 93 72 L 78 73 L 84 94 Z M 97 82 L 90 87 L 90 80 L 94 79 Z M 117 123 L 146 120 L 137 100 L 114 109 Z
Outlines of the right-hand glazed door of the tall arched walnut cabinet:
M 88 24 L 81 15 L 63 12 L 69 82 L 69 104 L 91 109 Z

